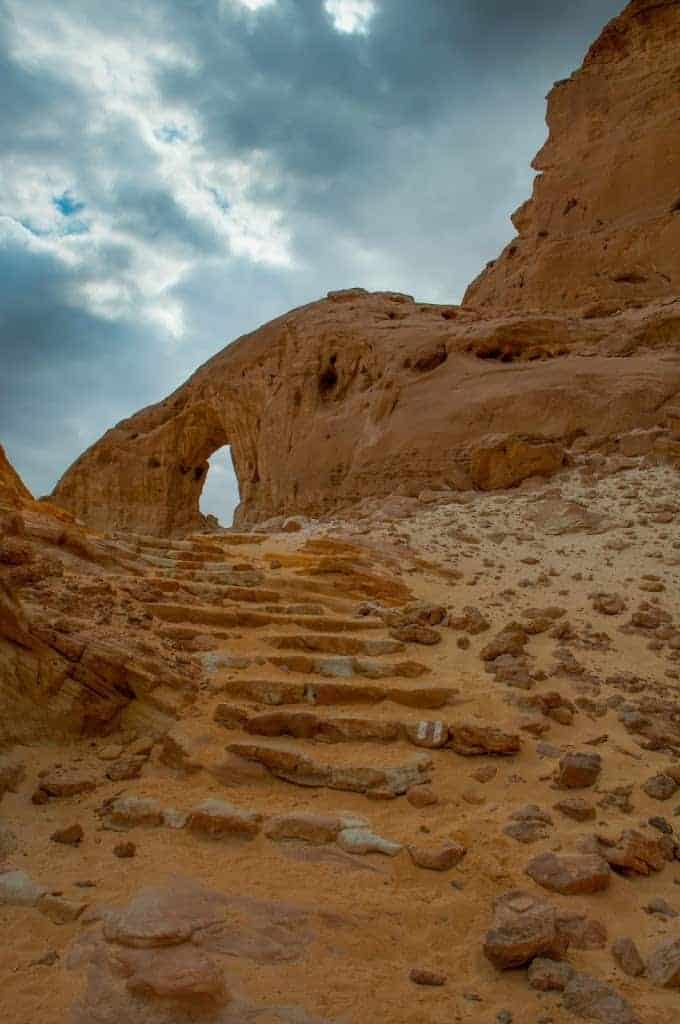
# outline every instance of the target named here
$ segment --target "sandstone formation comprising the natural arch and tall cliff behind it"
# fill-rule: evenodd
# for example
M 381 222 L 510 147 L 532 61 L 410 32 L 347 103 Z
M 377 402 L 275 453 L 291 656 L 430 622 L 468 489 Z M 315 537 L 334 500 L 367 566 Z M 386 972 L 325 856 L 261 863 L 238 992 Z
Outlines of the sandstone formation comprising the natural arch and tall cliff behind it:
M 654 430 L 677 459 L 679 45 L 677 0 L 634 0 L 555 87 L 519 239 L 464 306 L 354 289 L 293 310 L 110 430 L 54 501 L 97 528 L 180 534 L 203 524 L 224 444 L 237 523 L 510 487 L 584 435 Z

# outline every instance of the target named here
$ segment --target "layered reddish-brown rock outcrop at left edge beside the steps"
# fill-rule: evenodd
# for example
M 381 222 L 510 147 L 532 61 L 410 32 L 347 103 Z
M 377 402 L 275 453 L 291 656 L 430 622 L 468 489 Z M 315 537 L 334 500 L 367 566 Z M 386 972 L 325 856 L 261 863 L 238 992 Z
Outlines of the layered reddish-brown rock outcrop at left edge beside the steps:
M 0 499 L 0 749 L 111 731 L 130 706 L 147 726 L 167 728 L 196 670 L 179 674 L 174 655 L 150 649 L 141 615 L 126 635 L 111 625 L 111 602 L 127 598 L 102 571 L 138 571 L 130 549 L 108 545 L 28 490 L 22 497 L 18 484 L 11 501 Z

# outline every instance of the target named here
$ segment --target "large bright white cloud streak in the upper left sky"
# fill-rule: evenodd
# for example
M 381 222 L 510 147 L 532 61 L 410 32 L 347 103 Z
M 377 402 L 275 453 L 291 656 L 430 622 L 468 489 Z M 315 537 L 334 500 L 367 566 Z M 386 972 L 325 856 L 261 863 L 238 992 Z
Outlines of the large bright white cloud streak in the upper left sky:
M 239 2 L 255 10 L 270 0 Z M 135 232 L 134 222 L 121 226 L 126 210 L 112 209 L 111 197 L 119 186 L 129 186 L 130 170 L 125 154 L 120 161 L 115 151 L 112 155 L 113 130 L 140 140 L 142 173 L 144 165 L 153 170 L 154 187 L 170 197 L 187 222 L 214 238 L 222 255 L 292 265 L 283 214 L 249 198 L 255 184 L 267 183 L 264 159 L 216 162 L 208 155 L 196 113 L 180 102 L 168 104 L 157 89 L 159 71 L 200 69 L 188 47 L 179 51 L 159 36 L 158 23 L 153 36 L 116 37 L 49 0 L 12 0 L 10 6 L 12 58 L 35 74 L 47 71 L 66 79 L 87 97 L 87 105 L 73 148 L 60 146 L 58 156 L 36 157 L 28 166 L 23 159 L 0 156 L 0 215 L 15 225 L 12 233 L 18 230 L 25 244 L 24 234 L 33 236 L 34 248 L 80 269 L 87 308 L 108 318 L 147 318 L 175 339 L 184 331 L 181 305 L 169 293 L 192 265 L 190 253 L 175 240 L 150 242 Z M 65 195 L 84 205 L 77 218 L 65 216 L 56 205 Z M 7 236 L 7 223 L 2 230 Z M 98 258 L 112 247 L 127 253 L 115 270 Z M 105 268 L 105 278 L 97 276 L 97 266 Z

